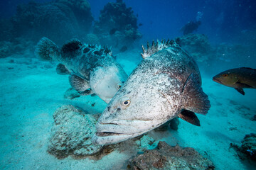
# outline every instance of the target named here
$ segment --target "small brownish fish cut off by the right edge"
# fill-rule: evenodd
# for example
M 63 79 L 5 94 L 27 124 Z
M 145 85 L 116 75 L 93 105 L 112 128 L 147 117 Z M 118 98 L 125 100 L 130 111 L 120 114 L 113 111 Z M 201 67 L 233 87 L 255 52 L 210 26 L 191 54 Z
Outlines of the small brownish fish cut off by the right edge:
M 256 69 L 248 67 L 228 69 L 213 77 L 213 81 L 225 86 L 233 87 L 240 94 L 245 95 L 243 88 L 256 89 Z

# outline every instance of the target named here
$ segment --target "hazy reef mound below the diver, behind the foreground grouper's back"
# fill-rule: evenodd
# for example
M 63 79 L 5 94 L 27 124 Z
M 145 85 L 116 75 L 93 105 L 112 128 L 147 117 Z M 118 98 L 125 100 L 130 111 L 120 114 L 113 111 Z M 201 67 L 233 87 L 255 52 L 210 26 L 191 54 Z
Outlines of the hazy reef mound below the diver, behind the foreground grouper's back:
M 197 62 L 209 62 L 213 57 L 213 49 L 209 40 L 203 34 L 183 35 L 180 39 L 181 47 L 186 50 Z

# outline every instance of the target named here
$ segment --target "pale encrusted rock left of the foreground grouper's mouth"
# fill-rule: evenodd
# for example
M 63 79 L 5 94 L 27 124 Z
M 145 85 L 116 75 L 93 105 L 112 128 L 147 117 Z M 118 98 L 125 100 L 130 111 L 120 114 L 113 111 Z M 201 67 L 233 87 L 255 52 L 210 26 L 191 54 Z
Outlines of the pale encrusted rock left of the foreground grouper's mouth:
M 81 158 L 100 154 L 103 147 L 92 145 L 91 142 L 96 132 L 94 116 L 73 106 L 61 106 L 53 118 L 54 126 L 48 145 L 50 154 L 58 159 L 69 155 Z

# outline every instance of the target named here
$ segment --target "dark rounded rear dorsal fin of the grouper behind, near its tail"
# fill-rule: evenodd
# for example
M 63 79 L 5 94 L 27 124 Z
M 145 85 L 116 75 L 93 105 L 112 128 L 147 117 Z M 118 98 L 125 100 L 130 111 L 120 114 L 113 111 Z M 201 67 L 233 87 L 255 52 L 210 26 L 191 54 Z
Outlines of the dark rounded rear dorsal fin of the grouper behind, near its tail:
M 77 39 L 69 40 L 60 49 L 61 57 L 73 58 L 82 54 L 82 42 Z

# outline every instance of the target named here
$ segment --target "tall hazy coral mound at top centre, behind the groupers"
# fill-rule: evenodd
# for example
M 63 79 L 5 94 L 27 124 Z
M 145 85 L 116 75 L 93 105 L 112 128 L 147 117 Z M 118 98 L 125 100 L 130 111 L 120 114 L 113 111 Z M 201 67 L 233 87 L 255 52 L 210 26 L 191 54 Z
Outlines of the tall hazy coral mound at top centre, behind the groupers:
M 94 33 L 102 45 L 110 45 L 120 50 L 129 47 L 134 40 L 142 38 L 137 26 L 137 18 L 132 8 L 127 8 L 122 0 L 110 2 L 100 11 L 99 21 L 95 22 Z

